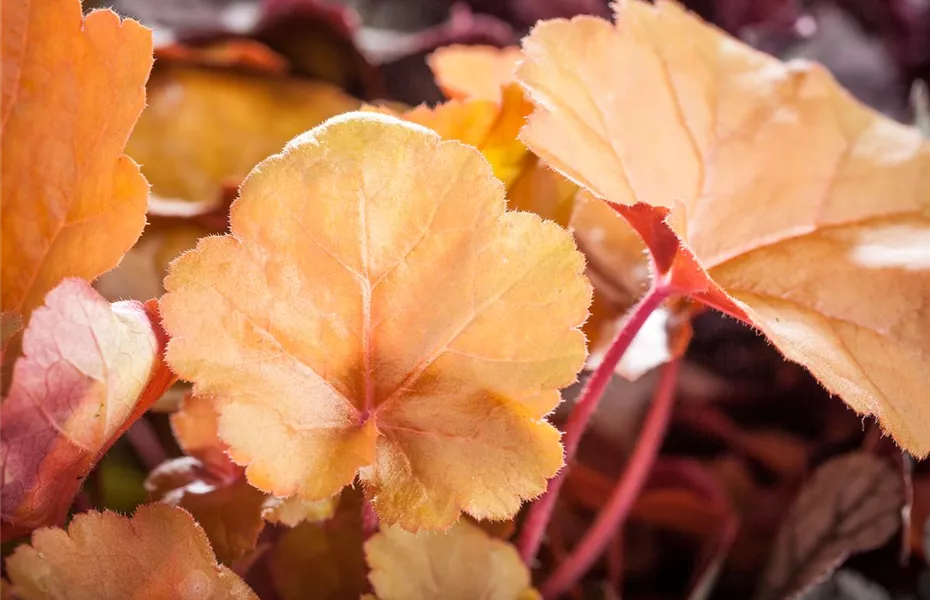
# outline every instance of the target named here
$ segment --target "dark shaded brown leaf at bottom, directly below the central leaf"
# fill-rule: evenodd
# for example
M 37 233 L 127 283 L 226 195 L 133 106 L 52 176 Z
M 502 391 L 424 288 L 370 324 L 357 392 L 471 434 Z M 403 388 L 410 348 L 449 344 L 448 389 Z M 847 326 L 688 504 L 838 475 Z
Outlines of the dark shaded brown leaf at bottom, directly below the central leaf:
M 327 523 L 291 529 L 268 557 L 268 572 L 282 600 L 357 598 L 366 586 L 361 497 L 346 498 Z

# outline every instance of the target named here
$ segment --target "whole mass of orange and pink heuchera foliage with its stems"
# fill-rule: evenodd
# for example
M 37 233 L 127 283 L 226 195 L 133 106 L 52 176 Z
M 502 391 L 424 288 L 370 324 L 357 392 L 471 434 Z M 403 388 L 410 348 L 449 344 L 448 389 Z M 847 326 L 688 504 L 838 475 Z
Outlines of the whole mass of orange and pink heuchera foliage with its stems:
M 710 312 L 878 424 L 792 462 L 682 407 L 787 474 L 755 597 L 926 552 L 926 132 L 669 0 L 439 48 L 446 101 L 363 103 L 345 22 L 292 4 L 157 47 L 3 4 L 0 597 L 612 597 L 642 522 L 706 540 L 710 597 L 740 486 L 661 456 Z M 582 441 L 624 379 L 648 407 L 608 477 Z M 94 492 L 127 440 L 131 516 Z

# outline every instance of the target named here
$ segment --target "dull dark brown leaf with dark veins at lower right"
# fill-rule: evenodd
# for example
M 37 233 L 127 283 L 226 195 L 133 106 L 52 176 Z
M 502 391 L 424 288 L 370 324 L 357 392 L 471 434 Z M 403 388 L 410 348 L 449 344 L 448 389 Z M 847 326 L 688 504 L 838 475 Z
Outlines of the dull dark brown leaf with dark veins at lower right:
M 804 484 L 782 523 L 756 600 L 795 597 L 846 558 L 880 547 L 901 526 L 904 489 L 883 459 L 834 458 Z

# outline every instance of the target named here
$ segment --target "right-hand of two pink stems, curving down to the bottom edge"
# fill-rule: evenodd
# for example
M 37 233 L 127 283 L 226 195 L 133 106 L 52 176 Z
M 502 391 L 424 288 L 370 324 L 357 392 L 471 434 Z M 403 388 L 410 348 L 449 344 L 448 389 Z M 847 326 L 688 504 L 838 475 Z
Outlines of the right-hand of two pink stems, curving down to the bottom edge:
M 604 548 L 616 534 L 617 528 L 629 514 L 655 463 L 662 440 L 665 439 L 665 431 L 674 405 L 680 364 L 681 360 L 676 358 L 662 367 L 662 379 L 626 471 L 617 481 L 594 524 L 568 558 L 542 585 L 543 598 L 556 598 L 571 589 L 600 558 Z

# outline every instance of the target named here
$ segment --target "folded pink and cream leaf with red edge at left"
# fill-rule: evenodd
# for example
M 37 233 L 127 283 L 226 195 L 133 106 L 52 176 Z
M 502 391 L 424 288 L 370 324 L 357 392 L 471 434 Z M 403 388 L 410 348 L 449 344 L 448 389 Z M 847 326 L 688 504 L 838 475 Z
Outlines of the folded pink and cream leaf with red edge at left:
M 49 292 L 0 403 L 0 540 L 60 523 L 84 478 L 174 381 L 146 307 L 86 281 Z

